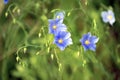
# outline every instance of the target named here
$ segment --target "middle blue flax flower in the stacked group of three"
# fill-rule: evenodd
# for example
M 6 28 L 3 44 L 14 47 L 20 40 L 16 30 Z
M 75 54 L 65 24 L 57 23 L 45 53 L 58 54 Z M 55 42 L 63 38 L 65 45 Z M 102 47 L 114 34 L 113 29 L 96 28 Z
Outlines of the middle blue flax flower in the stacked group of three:
M 66 25 L 59 21 L 59 19 L 49 19 L 49 33 L 56 34 L 59 31 L 67 30 Z

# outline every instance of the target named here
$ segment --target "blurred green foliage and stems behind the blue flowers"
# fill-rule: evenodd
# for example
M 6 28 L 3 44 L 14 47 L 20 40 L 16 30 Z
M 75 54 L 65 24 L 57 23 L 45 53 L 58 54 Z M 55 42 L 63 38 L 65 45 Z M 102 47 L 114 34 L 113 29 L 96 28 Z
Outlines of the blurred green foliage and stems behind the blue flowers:
M 101 19 L 112 9 L 113 26 Z M 48 33 L 48 19 L 65 11 L 73 45 L 64 51 Z M 79 42 L 99 37 L 95 52 Z M 0 80 L 120 80 L 119 0 L 0 0 Z

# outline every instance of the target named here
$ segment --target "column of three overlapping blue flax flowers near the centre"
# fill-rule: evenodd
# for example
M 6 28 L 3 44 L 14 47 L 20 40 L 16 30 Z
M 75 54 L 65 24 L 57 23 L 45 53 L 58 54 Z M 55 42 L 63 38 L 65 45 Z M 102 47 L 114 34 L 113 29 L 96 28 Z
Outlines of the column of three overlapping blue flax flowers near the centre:
M 54 19 L 49 19 L 49 33 L 54 34 L 54 44 L 60 50 L 64 50 L 68 45 L 72 44 L 71 34 L 67 32 L 67 27 L 63 23 L 65 13 L 57 12 Z

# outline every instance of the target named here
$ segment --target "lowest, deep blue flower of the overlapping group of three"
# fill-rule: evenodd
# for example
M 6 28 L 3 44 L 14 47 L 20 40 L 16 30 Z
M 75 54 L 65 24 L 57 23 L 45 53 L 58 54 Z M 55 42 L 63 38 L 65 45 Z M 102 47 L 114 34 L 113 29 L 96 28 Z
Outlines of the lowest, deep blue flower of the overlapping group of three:
M 70 38 L 70 36 L 71 34 L 69 32 L 59 31 L 55 35 L 53 43 L 55 43 L 60 48 L 60 50 L 63 51 L 68 45 L 72 44 L 72 39 Z

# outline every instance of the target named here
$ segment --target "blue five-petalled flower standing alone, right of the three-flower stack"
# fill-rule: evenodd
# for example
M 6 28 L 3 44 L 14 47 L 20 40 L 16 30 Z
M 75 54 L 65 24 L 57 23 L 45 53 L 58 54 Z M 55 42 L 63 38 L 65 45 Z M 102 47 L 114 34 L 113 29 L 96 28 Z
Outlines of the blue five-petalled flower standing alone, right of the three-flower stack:
M 80 39 L 80 42 L 82 43 L 82 46 L 84 47 L 84 50 L 96 50 L 96 43 L 98 42 L 98 38 L 96 36 L 92 36 L 90 32 L 83 35 L 82 39 Z

